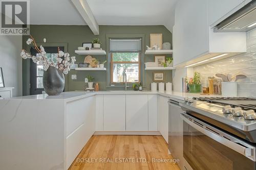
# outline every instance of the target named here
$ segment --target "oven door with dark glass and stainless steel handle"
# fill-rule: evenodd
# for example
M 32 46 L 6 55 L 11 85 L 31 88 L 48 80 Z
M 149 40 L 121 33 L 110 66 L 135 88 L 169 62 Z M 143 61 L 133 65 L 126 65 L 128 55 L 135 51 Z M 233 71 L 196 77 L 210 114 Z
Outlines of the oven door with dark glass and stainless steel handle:
M 183 120 L 184 169 L 255 168 L 255 143 L 244 141 L 187 113 Z

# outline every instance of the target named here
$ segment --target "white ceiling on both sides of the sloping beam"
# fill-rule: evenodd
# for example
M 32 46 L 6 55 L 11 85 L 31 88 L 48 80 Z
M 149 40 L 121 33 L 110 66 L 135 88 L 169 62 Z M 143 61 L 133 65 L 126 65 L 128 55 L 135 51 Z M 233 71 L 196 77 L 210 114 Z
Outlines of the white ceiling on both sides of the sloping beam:
M 172 30 L 178 0 L 87 0 L 99 25 L 164 25 Z M 71 0 L 31 0 L 31 24 L 86 25 Z

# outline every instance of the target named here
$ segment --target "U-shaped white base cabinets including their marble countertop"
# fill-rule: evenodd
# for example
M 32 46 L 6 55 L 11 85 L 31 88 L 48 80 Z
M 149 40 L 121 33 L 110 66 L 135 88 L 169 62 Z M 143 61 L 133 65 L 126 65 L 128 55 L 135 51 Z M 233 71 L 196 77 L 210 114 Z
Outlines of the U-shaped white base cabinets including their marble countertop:
M 0 169 L 66 170 L 93 134 L 162 135 L 167 142 L 168 98 L 190 95 L 75 91 L 0 100 Z

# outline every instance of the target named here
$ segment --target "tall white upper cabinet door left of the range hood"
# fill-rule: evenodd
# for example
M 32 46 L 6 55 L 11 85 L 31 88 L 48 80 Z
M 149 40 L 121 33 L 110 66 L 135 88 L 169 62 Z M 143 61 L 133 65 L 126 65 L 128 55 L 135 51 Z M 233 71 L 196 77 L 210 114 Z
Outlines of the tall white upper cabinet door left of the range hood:
M 207 1 L 178 1 L 173 39 L 174 65 L 195 59 L 209 50 L 207 19 Z

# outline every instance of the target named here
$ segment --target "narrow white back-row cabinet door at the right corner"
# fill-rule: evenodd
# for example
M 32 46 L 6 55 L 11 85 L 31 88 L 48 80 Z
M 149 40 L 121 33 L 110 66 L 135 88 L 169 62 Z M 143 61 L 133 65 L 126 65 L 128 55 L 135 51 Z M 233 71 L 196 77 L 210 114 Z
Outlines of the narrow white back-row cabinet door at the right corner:
M 157 94 L 148 94 L 148 131 L 157 131 Z

